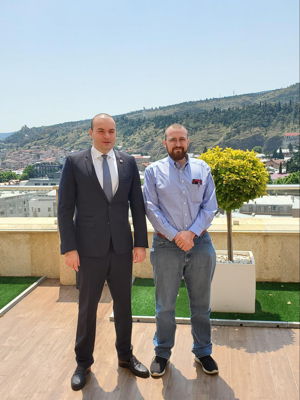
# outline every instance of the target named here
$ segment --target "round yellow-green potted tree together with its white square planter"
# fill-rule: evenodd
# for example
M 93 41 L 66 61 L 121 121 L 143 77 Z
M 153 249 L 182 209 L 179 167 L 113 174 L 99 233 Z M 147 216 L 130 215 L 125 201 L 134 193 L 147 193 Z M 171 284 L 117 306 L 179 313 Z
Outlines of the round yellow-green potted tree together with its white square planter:
M 252 265 L 234 262 L 232 245 L 232 210 L 244 202 L 266 194 L 268 172 L 254 151 L 222 149 L 215 147 L 200 157 L 210 167 L 216 185 L 219 207 L 227 217 L 227 254 L 229 264 L 216 267 L 213 280 L 212 298 L 214 311 L 254 312 L 255 311 L 255 262 L 248 251 Z M 217 251 L 217 254 L 225 251 Z M 246 253 L 240 251 L 239 254 Z M 248 272 L 247 272 L 248 271 Z M 217 300 L 217 298 L 219 300 Z M 242 301 L 244 300 L 244 301 Z

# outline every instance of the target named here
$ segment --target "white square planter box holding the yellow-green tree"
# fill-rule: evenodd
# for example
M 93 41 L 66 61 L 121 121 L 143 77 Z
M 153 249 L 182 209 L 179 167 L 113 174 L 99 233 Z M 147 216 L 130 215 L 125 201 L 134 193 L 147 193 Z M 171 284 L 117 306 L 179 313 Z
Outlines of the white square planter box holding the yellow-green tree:
M 233 254 L 249 254 L 251 264 L 218 263 L 211 287 L 211 309 L 219 312 L 255 312 L 256 275 L 251 251 L 236 251 Z M 227 254 L 227 250 L 217 250 Z

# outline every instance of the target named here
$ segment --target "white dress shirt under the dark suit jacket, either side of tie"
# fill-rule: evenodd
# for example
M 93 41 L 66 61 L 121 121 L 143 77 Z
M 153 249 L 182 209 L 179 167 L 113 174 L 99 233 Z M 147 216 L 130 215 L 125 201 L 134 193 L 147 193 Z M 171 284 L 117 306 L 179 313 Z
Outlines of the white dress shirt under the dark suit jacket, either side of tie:
M 98 181 L 103 188 L 103 157 L 101 151 L 97 150 L 94 146 L 91 148 L 92 160 L 94 164 L 94 168 L 96 171 L 96 175 Z M 113 149 L 111 149 L 107 153 L 107 163 L 109 166 L 109 172 L 111 176 L 111 184 L 112 184 L 112 192 L 115 195 L 116 191 L 118 190 L 119 186 L 119 174 L 118 174 L 118 167 L 117 167 L 117 160 L 116 155 Z

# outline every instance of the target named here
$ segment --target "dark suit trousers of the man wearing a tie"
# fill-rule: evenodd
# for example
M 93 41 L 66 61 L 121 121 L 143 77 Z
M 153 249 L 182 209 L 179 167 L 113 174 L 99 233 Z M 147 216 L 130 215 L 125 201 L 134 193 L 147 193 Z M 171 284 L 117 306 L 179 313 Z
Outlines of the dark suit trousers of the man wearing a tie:
M 105 257 L 80 257 L 79 312 L 75 353 L 77 364 L 88 368 L 94 362 L 97 307 L 105 280 L 113 299 L 118 358 L 128 360 L 131 351 L 132 252 Z M 101 337 L 101 328 L 100 328 Z M 101 339 L 100 339 L 101 340 Z

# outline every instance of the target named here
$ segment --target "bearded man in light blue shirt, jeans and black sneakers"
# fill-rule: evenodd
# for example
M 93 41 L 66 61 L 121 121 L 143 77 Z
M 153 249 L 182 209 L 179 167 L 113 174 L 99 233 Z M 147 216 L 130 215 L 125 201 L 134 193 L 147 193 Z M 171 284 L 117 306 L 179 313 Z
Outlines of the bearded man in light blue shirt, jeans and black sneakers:
M 187 286 L 195 361 L 207 374 L 218 373 L 211 357 L 210 289 L 216 253 L 207 232 L 217 211 L 209 166 L 187 154 L 187 129 L 165 131 L 168 157 L 145 170 L 144 200 L 155 234 L 150 253 L 156 297 L 155 356 L 152 376 L 162 376 L 175 341 L 175 304 L 182 277 Z

